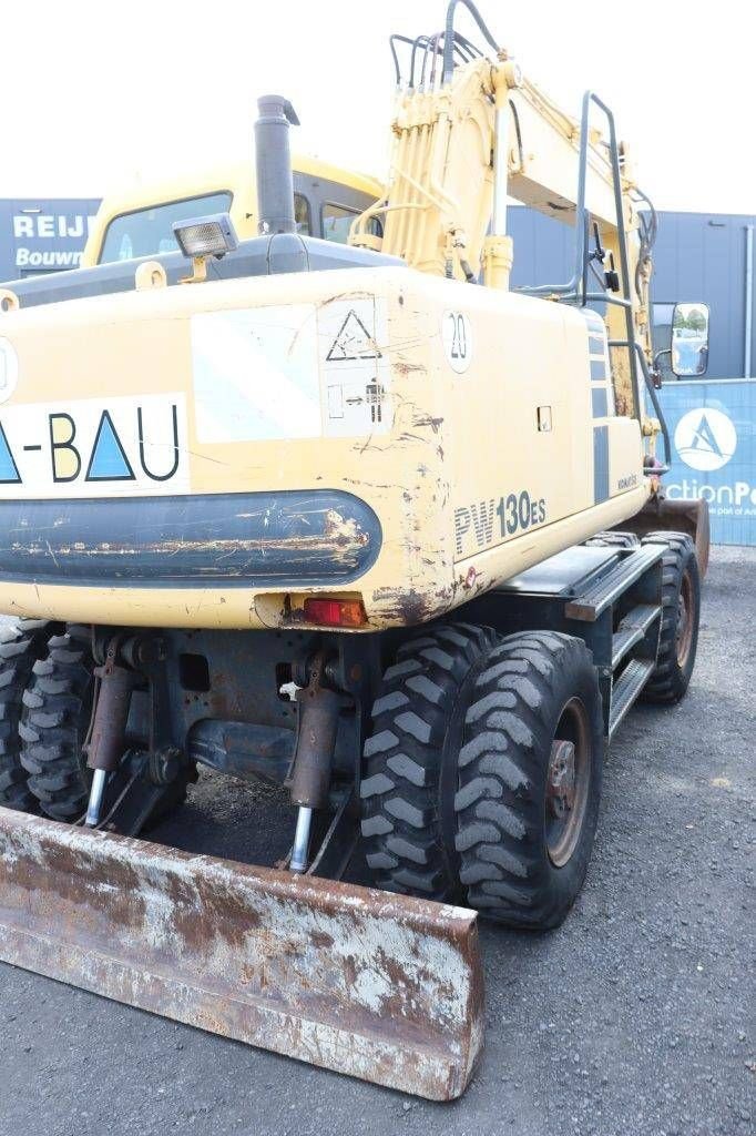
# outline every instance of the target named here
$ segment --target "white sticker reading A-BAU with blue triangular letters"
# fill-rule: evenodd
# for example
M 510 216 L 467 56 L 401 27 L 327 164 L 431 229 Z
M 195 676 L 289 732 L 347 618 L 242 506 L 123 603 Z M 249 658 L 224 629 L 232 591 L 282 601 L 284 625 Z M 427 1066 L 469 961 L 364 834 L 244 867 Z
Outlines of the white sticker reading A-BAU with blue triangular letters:
M 183 394 L 0 407 L 0 499 L 188 492 Z

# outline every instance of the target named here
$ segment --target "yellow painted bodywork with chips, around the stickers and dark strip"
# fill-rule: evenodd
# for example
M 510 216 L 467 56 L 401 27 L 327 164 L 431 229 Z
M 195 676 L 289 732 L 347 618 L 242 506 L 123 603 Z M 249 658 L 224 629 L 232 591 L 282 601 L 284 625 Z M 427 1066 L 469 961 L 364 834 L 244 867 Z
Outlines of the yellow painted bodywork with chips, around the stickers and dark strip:
M 196 312 L 313 304 L 375 295 L 387 311 L 393 425 L 384 434 L 202 443 L 194 414 L 190 321 Z M 448 361 L 442 320 L 463 314 L 471 360 Z M 134 291 L 2 316 L 19 360 L 8 406 L 183 392 L 193 493 L 343 490 L 383 527 L 380 553 L 348 587 L 366 629 L 419 624 L 558 550 L 636 513 L 648 495 L 638 423 L 607 419 L 611 496 L 594 506 L 588 341 L 566 307 L 377 268 Z M 538 429 L 538 408 L 552 429 Z M 620 485 L 632 487 L 620 490 Z M 501 535 L 497 503 L 526 491 L 544 516 Z M 121 490 L 123 493 L 123 490 Z M 59 487 L 61 500 L 66 486 Z M 102 495 L 100 490 L 99 495 Z M 0 486 L 0 498 L 2 487 Z M 462 534 L 455 512 L 477 520 Z M 485 513 L 481 525 L 480 518 Z M 493 518 L 493 520 L 492 520 Z M 524 518 L 523 518 L 524 519 Z M 114 540 L 118 534 L 114 533 Z M 313 587 L 338 595 L 333 586 Z M 287 598 L 288 596 L 288 598 Z M 0 582 L 0 610 L 129 626 L 270 627 L 299 623 L 304 591 L 49 586 Z

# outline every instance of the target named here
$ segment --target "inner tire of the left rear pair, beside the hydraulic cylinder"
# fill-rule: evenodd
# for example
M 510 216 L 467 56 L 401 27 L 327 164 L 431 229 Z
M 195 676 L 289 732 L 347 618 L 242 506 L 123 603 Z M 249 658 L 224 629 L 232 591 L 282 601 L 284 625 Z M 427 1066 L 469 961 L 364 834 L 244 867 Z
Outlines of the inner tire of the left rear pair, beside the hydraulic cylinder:
M 53 820 L 72 822 L 86 810 L 91 774 L 82 745 L 92 713 L 92 668 L 86 643 L 56 635 L 24 693 L 22 765 L 30 790 Z

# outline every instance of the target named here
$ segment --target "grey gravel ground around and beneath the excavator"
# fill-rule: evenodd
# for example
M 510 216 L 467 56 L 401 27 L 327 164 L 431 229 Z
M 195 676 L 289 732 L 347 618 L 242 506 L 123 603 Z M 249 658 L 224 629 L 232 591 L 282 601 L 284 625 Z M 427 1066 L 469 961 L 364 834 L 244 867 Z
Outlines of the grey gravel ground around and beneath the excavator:
M 487 1045 L 462 1101 L 409 1100 L 0 966 L 1 1136 L 751 1133 L 755 569 L 756 550 L 715 550 L 690 692 L 625 720 L 566 924 L 484 928 Z M 160 837 L 254 860 L 277 820 L 275 793 L 203 777 Z

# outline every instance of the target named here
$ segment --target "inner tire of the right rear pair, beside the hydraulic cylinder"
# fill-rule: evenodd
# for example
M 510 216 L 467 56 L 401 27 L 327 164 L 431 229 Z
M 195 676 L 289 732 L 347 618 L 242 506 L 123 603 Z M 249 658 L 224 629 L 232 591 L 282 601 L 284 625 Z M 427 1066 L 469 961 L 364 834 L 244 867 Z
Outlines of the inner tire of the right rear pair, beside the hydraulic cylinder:
M 499 638 L 470 624 L 428 628 L 400 648 L 384 675 L 360 790 L 366 855 L 379 887 L 464 899 L 454 847 L 456 755 L 468 687 Z

